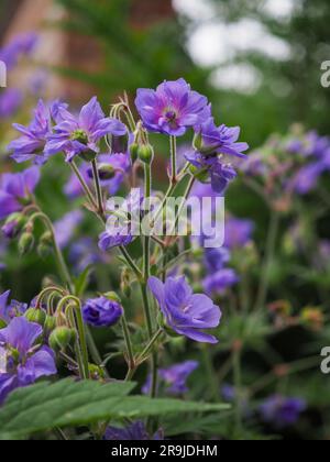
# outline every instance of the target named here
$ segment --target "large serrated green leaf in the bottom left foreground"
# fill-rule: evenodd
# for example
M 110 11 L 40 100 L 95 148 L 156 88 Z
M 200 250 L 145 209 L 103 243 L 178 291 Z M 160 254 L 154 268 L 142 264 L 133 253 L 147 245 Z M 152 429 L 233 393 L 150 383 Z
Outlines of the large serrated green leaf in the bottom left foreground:
M 0 409 L 0 439 L 14 440 L 55 427 L 85 426 L 100 420 L 229 408 L 227 405 L 128 396 L 134 386 L 134 383 L 124 382 L 100 384 L 64 380 L 20 388 Z

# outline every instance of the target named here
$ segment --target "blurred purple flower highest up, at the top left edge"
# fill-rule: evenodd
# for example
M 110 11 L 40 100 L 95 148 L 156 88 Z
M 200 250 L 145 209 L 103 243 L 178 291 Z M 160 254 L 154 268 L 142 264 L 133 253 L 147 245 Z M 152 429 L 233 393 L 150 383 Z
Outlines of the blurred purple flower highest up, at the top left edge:
M 37 35 L 34 32 L 16 35 L 0 50 L 0 61 L 11 70 L 22 55 L 30 55 L 34 51 L 36 43 Z

